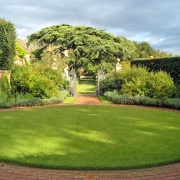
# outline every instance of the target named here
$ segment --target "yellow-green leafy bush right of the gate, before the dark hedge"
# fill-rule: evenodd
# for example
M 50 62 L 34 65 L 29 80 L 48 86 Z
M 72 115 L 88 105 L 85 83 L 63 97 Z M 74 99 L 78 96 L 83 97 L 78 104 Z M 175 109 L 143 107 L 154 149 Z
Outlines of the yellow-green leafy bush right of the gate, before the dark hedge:
M 166 99 L 175 96 L 172 78 L 163 71 L 148 72 L 143 67 L 125 68 L 107 75 L 101 83 L 103 92 L 116 91 L 131 96 Z

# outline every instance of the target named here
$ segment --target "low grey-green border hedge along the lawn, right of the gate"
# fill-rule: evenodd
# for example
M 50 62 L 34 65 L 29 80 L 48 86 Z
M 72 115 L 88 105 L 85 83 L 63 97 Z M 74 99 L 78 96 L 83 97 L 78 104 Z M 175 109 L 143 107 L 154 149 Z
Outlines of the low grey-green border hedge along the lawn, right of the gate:
M 180 109 L 180 99 L 154 99 L 145 96 L 119 95 L 115 92 L 104 93 L 106 99 L 116 104 L 144 105 Z

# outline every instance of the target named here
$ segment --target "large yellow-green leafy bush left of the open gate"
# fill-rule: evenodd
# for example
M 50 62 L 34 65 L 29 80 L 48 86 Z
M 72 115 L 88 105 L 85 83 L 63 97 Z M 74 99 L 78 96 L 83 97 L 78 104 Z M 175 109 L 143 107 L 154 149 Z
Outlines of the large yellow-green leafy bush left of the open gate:
M 62 73 L 51 67 L 33 64 L 15 66 L 11 78 L 13 92 L 30 93 L 33 97 L 51 98 L 59 96 L 65 81 Z

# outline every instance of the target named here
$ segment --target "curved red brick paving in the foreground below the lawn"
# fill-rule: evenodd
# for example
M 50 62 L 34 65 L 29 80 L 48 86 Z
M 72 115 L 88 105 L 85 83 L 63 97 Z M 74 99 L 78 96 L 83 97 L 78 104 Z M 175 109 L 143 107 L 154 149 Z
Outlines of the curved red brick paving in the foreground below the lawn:
M 52 170 L 0 163 L 0 180 L 179 180 L 180 163 L 138 170 Z

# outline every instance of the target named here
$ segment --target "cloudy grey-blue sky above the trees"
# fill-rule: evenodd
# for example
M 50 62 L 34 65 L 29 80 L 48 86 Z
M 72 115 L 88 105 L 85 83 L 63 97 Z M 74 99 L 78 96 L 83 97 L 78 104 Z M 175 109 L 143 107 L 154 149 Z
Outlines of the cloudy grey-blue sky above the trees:
M 19 38 L 57 24 L 91 26 L 180 55 L 180 0 L 0 0 Z

